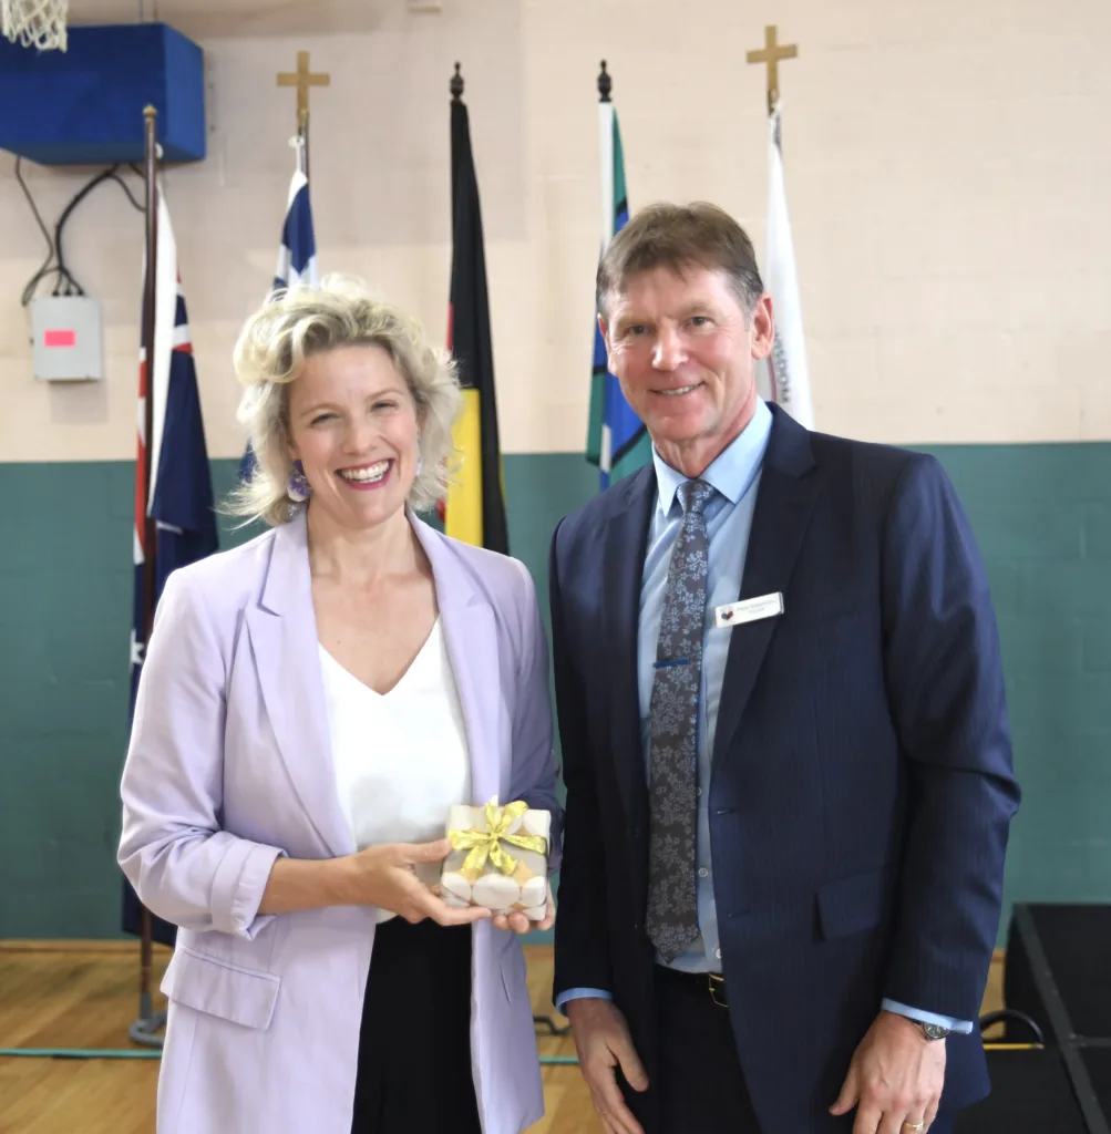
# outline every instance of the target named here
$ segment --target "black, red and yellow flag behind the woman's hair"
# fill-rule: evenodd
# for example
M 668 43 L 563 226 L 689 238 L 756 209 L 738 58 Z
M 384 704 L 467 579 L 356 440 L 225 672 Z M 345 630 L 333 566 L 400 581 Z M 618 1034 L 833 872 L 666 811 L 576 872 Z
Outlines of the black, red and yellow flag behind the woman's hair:
M 460 99 L 452 101 L 452 245 L 447 346 L 458 365 L 463 415 L 455 425 L 462 459 L 447 490 L 445 531 L 465 543 L 508 553 L 482 212 L 470 118 Z

